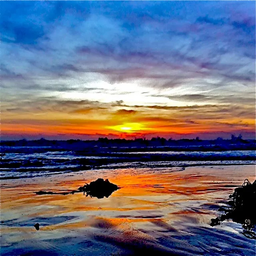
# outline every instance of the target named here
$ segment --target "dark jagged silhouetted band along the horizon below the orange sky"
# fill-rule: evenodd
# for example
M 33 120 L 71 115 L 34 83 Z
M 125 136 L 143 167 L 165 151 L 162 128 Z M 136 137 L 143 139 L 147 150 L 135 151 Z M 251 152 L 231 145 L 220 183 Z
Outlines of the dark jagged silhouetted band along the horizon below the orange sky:
M 2 147 L 40 147 L 40 150 L 75 150 L 90 152 L 134 152 L 134 151 L 226 151 L 256 150 L 256 140 L 244 140 L 241 135 L 232 135 L 229 140 L 137 138 L 134 140 L 98 138 L 98 140 L 17 140 L 2 141 Z M 50 149 L 49 149 L 50 147 Z M 24 150 L 23 150 L 24 152 Z

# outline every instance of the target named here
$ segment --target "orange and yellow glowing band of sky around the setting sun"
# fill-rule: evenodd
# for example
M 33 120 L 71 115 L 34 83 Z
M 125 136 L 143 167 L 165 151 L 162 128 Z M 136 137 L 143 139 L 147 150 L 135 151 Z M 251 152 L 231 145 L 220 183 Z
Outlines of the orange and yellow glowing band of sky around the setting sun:
M 132 137 L 156 137 L 175 138 L 177 135 L 200 133 L 216 133 L 216 138 L 222 136 L 218 132 L 241 133 L 255 132 L 255 119 L 250 116 L 244 119 L 230 116 L 213 116 L 213 109 L 209 117 L 204 119 L 198 110 L 188 108 L 159 109 L 132 107 L 124 109 L 100 107 L 98 110 L 88 109 L 86 112 L 6 112 L 1 118 L 1 135 L 7 138 L 12 136 L 50 136 L 60 138 L 97 139 L 99 137 L 132 138 Z M 15 114 L 15 115 L 14 115 Z M 87 136 L 87 137 L 86 137 Z M 9 139 L 8 138 L 8 139 Z

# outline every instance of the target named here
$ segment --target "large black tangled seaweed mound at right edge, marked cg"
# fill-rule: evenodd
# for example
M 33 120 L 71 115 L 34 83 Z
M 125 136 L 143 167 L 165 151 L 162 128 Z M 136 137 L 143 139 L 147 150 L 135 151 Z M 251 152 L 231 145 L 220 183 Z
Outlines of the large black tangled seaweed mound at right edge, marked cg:
M 229 198 L 231 200 L 228 202 L 228 209 L 221 207 L 220 210 L 224 209 L 225 213 L 211 219 L 210 225 L 215 226 L 224 220 L 232 219 L 234 222 L 242 224 L 246 230 L 254 227 L 256 225 L 256 180 L 252 184 L 248 179 L 244 180 L 244 184 L 235 188 Z

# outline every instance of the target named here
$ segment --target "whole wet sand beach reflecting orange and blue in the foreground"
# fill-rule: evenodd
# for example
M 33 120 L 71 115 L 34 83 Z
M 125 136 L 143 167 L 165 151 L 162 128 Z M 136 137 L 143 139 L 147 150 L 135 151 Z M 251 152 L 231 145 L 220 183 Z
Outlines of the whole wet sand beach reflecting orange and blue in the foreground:
M 96 178 L 121 187 L 109 198 L 70 191 Z M 1 256 L 256 255 L 240 224 L 211 227 L 255 166 L 97 170 L 1 182 Z M 234 185 L 234 187 L 230 186 Z M 40 230 L 34 228 L 40 224 Z

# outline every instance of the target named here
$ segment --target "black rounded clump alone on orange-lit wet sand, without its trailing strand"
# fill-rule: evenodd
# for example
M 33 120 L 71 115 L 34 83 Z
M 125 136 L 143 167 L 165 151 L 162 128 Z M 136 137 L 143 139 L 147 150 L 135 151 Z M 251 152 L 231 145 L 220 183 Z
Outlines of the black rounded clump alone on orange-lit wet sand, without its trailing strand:
M 114 191 L 118 190 L 118 186 L 109 182 L 108 179 L 98 178 L 96 181 L 90 182 L 83 187 L 78 188 L 78 190 L 86 192 L 86 196 L 97 197 L 97 198 L 108 198 Z

